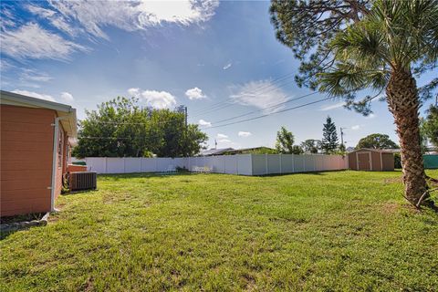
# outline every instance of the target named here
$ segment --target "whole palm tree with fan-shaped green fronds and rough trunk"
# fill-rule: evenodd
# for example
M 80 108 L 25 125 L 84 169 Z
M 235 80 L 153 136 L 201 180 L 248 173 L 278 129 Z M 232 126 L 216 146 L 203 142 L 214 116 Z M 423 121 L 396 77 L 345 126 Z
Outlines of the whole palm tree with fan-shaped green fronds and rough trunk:
M 400 140 L 405 198 L 421 203 L 427 183 L 414 76 L 436 68 L 438 1 L 377 0 L 363 20 L 339 32 L 329 47 L 336 63 L 318 75 L 320 90 L 337 97 L 368 88 L 377 90 L 376 96 L 386 92 Z

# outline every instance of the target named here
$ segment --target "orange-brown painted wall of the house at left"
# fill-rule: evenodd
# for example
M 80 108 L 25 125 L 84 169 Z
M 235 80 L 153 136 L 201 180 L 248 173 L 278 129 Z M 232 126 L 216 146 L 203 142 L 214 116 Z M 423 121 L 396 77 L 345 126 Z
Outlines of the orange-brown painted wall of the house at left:
M 0 114 L 0 215 L 50 211 L 56 111 L 1 105 Z M 64 163 L 57 169 L 56 196 Z

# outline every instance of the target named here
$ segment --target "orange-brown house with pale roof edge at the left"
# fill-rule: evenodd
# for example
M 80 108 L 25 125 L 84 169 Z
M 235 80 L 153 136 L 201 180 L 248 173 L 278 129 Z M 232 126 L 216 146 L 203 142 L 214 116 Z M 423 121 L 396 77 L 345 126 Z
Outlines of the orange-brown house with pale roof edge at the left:
M 1 90 L 0 114 L 0 215 L 54 211 L 77 137 L 76 110 Z

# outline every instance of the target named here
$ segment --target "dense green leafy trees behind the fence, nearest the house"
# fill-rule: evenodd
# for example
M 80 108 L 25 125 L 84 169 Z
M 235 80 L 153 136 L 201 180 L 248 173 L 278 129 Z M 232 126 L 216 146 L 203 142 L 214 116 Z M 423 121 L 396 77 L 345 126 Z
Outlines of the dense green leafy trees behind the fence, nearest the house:
M 76 157 L 193 156 L 208 139 L 198 125 L 186 125 L 181 108 L 142 108 L 135 98 L 103 102 L 86 115 L 79 121 Z

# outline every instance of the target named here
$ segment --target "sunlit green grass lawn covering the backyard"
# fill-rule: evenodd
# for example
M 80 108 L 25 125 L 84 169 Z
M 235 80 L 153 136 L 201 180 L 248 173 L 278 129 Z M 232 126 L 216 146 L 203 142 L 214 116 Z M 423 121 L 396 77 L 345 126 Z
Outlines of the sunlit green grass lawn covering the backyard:
M 400 177 L 99 176 L 0 242 L 0 290 L 437 291 L 438 214 Z

